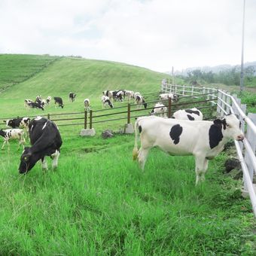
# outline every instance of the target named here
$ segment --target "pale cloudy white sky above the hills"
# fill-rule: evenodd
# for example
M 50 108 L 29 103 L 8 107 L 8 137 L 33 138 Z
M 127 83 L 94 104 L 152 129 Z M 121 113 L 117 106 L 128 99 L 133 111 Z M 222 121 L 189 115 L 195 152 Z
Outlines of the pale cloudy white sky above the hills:
M 82 56 L 157 72 L 239 65 L 243 0 L 0 0 L 0 53 Z M 244 61 L 256 61 L 256 1 Z

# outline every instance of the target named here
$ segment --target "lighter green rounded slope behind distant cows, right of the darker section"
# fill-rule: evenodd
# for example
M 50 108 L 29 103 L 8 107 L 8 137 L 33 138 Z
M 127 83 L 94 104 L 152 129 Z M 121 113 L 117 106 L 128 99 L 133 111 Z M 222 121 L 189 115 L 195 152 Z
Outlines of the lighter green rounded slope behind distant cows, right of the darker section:
M 8 72 L 4 75 L 8 79 Z M 25 99 L 38 94 L 67 96 L 70 91 L 96 96 L 102 90 L 159 90 L 162 73 L 118 62 L 61 58 L 29 80 L 2 93 L 3 98 Z

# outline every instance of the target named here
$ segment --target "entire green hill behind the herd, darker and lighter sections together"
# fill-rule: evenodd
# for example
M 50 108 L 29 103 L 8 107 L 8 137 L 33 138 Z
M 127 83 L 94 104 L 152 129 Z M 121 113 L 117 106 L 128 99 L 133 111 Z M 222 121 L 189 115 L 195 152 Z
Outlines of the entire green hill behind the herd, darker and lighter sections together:
M 139 66 L 77 57 L 1 55 L 2 99 L 34 99 L 36 95 L 99 96 L 102 90 L 157 91 L 166 74 Z

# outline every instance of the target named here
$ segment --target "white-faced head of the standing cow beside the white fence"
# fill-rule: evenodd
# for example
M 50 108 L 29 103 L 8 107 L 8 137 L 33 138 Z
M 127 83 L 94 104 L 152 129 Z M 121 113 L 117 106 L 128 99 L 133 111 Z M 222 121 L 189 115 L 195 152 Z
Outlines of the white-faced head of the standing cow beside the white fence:
M 214 123 L 222 126 L 222 133 L 227 138 L 232 138 L 236 141 L 242 141 L 245 138 L 240 130 L 241 122 L 235 114 L 227 114 L 223 119 L 215 120 Z

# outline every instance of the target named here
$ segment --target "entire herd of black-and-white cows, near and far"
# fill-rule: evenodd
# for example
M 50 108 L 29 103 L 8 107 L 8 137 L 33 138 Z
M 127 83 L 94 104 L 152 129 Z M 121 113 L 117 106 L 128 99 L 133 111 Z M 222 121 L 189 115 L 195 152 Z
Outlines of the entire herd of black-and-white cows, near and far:
M 69 94 L 69 96 L 71 96 Z M 75 100 L 75 93 L 69 99 Z M 111 99 L 114 101 L 123 101 L 123 99 L 135 99 L 138 105 L 147 108 L 147 103 L 140 93 L 133 91 L 106 90 L 103 92 L 102 105 L 109 105 L 113 108 Z M 55 103 L 63 107 L 62 99 L 54 97 Z M 61 99 L 61 101 L 59 101 Z M 160 94 L 160 100 L 171 99 L 177 101 L 178 96 L 173 93 Z M 48 105 L 51 98 L 46 101 L 38 96 L 35 102 L 27 102 L 29 107 L 38 104 L 40 108 Z M 28 100 L 26 100 L 28 101 Z M 32 104 L 35 103 L 35 104 Z M 84 99 L 84 107 L 90 108 L 90 100 Z M 33 106 L 32 106 L 33 108 Z M 240 130 L 241 123 L 234 114 L 228 114 L 222 119 L 213 121 L 203 120 L 202 112 L 197 108 L 183 109 L 175 111 L 172 118 L 166 118 L 167 108 L 161 102 L 158 102 L 151 116 L 139 117 L 135 123 L 136 138 L 133 149 L 133 159 L 139 160 L 139 165 L 144 169 L 148 152 L 153 147 L 158 147 L 171 155 L 194 155 L 196 160 L 196 184 L 204 180 L 208 161 L 219 154 L 228 139 L 242 141 L 244 136 Z M 0 130 L 0 136 L 4 138 L 4 144 L 8 144 L 9 139 L 17 139 L 20 145 L 23 145 L 23 154 L 20 157 L 20 173 L 29 172 L 38 160 L 41 160 L 42 168 L 47 169 L 45 161 L 46 156 L 53 159 L 52 167 L 56 168 L 59 158 L 59 148 L 62 145 L 62 139 L 55 123 L 44 117 L 36 117 L 30 120 L 29 117 L 20 117 L 13 120 L 5 120 L 6 126 L 11 129 Z M 31 142 L 31 147 L 24 147 L 25 133 L 27 133 Z M 138 132 L 140 135 L 141 148 L 138 151 L 137 141 Z

